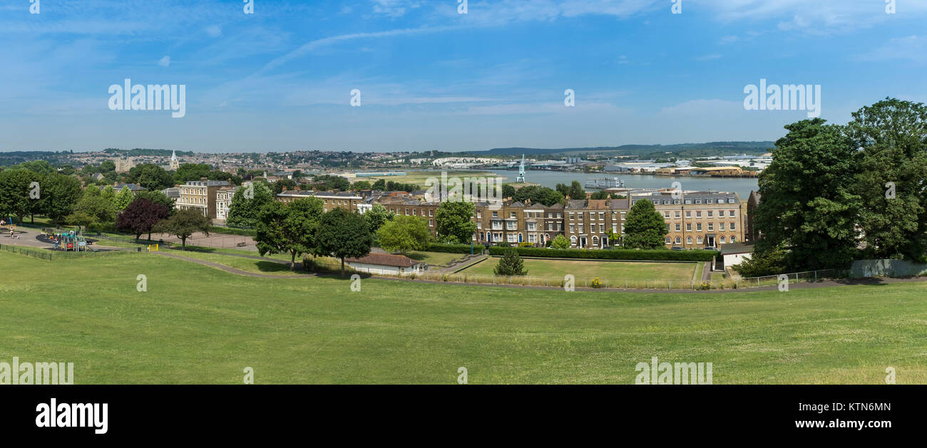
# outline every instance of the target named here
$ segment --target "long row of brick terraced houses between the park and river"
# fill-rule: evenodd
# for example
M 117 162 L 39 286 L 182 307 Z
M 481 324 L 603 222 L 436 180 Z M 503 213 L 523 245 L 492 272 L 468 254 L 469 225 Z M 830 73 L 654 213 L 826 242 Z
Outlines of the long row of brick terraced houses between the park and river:
M 425 202 L 408 195 L 380 194 L 366 200 L 354 193 L 284 192 L 277 200 L 289 202 L 301 197 L 318 197 L 325 211 L 334 207 L 363 213 L 374 203 L 390 212 L 428 221 L 437 236 L 435 216 L 438 202 Z M 631 194 L 631 199 L 569 200 L 566 205 L 545 206 L 530 201 L 506 202 L 493 209 L 486 202 L 475 203 L 474 243 L 529 243 L 543 246 L 564 235 L 571 247 L 601 249 L 619 244 L 625 232 L 630 206 L 653 201 L 666 221 L 669 247 L 717 248 L 726 243 L 743 243 L 744 213 L 736 193 L 693 192 L 674 198 L 669 191 Z

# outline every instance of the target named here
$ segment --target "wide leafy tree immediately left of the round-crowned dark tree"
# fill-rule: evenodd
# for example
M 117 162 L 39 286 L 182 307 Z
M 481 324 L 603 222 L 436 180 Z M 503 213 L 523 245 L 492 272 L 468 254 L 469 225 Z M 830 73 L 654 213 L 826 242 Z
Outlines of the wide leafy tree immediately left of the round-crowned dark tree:
M 297 256 L 312 253 L 322 208 L 322 200 L 315 197 L 261 208 L 255 237 L 260 255 L 289 253 L 290 270 L 296 268 Z

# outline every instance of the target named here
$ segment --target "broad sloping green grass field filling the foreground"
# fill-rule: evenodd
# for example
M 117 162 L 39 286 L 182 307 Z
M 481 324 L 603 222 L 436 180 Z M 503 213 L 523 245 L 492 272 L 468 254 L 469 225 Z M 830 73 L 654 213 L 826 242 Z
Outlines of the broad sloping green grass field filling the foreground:
M 0 361 L 75 383 L 627 383 L 711 362 L 716 384 L 927 382 L 927 283 L 790 292 L 517 290 L 267 280 L 155 254 L 0 252 Z M 147 276 L 147 292 L 136 276 Z

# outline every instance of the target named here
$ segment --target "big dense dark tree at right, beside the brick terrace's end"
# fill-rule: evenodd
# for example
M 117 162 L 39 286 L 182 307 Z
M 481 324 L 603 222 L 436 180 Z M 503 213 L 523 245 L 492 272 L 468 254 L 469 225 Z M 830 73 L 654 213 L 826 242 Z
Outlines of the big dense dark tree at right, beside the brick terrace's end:
M 854 145 L 822 118 L 785 126 L 772 163 L 759 177 L 763 201 L 754 224 L 755 255 L 779 247 L 795 270 L 844 268 L 857 253 L 859 196 L 852 193 Z

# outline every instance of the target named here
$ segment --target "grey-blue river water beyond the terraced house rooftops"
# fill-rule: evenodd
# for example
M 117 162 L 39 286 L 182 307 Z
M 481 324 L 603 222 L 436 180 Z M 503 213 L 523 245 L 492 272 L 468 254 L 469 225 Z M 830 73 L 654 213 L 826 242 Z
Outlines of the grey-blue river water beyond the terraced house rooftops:
M 498 176 L 507 178 L 506 182 L 514 182 L 518 177 L 517 170 L 490 169 Z M 682 190 L 713 191 L 737 193 L 742 200 L 750 196 L 751 190 L 759 190 L 756 178 L 703 178 L 689 176 L 652 176 L 647 174 L 620 174 L 620 173 L 593 173 L 587 174 L 577 171 L 532 171 L 525 173 L 525 180 L 539 183 L 541 186 L 554 188 L 558 183 L 569 185 L 573 180 L 579 180 L 585 189 L 586 180 L 602 178 L 618 178 L 625 181 L 627 188 L 673 188 L 673 182 L 679 182 Z M 586 189 L 590 192 L 598 190 Z

